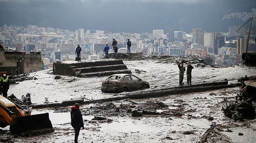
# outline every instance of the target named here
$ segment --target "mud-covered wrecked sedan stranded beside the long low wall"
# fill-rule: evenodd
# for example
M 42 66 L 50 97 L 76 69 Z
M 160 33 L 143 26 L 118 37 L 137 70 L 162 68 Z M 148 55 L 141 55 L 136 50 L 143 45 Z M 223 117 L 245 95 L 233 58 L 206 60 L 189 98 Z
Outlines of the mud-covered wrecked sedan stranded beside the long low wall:
M 149 88 L 150 85 L 132 74 L 113 74 L 102 81 L 102 92 L 127 92 L 131 90 Z

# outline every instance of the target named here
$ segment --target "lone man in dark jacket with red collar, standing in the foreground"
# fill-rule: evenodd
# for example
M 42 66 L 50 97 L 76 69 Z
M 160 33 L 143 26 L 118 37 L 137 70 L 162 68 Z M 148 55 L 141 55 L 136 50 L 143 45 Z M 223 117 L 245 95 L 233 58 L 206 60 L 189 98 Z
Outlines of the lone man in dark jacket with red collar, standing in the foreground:
M 70 112 L 71 125 L 75 130 L 75 143 L 78 143 L 77 139 L 78 139 L 78 135 L 81 127 L 84 129 L 83 117 L 79 108 L 80 108 L 79 103 L 76 103 L 75 106 L 71 107 L 71 112 Z

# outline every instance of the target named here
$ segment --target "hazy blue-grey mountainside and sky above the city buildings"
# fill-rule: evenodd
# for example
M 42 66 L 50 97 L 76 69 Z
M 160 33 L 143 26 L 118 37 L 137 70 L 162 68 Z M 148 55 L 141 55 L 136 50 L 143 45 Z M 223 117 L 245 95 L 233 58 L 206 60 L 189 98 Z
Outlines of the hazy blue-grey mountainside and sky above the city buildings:
M 228 31 L 245 21 L 225 14 L 256 8 L 255 0 L 0 0 L 0 25 L 143 33 L 170 28 Z

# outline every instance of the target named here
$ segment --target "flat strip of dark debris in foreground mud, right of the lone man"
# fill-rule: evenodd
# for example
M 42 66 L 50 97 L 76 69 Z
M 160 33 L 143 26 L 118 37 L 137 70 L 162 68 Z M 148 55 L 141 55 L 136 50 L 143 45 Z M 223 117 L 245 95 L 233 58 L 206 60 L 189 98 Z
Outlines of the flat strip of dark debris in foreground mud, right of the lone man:
M 165 115 L 165 116 L 182 116 L 184 108 L 182 105 L 178 106 L 176 109 L 169 109 L 169 106 L 163 102 L 157 101 L 146 101 L 143 103 L 136 103 L 131 99 L 124 99 L 125 102 L 130 102 L 127 104 L 120 104 L 116 106 L 113 103 L 108 103 L 106 105 L 100 105 L 96 107 L 90 107 L 90 109 L 84 109 L 82 112 L 84 115 L 99 115 L 99 116 L 132 116 L 132 117 L 142 117 L 151 115 Z

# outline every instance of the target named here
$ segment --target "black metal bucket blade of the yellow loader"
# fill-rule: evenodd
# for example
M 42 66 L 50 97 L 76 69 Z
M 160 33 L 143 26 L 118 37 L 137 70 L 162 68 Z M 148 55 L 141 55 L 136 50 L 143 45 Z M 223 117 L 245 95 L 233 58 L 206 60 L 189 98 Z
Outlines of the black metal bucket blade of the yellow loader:
M 53 132 L 49 113 L 14 117 L 10 132 L 17 135 L 36 135 Z

